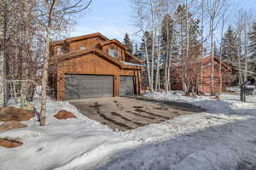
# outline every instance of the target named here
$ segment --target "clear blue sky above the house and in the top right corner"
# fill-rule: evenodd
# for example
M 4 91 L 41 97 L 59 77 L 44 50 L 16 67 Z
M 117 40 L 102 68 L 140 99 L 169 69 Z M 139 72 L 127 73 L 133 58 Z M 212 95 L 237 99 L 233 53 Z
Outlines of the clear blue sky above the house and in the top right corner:
M 256 10 L 256 0 L 230 1 L 238 3 L 240 7 Z M 99 31 L 106 37 L 123 41 L 125 32 L 132 34 L 137 31 L 130 16 L 130 0 L 93 0 L 90 9 L 77 18 L 77 25 L 73 27 L 70 37 Z

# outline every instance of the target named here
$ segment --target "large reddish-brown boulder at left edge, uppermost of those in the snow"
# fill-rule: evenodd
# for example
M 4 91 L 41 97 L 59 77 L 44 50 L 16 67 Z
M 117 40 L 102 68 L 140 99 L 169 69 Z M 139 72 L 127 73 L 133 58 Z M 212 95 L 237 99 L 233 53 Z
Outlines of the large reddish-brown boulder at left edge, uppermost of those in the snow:
M 35 111 L 15 108 L 13 106 L 0 108 L 0 121 L 3 122 L 23 122 L 30 120 L 34 116 Z

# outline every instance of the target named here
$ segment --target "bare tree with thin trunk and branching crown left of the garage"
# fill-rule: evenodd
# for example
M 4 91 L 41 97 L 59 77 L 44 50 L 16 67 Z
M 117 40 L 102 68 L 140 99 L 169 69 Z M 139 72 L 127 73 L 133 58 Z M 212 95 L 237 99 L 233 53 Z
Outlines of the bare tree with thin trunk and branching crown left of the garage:
M 42 76 L 42 95 L 41 95 L 41 111 L 40 125 L 45 125 L 45 110 L 46 110 L 46 90 L 48 82 L 48 64 L 49 64 L 49 41 L 51 33 L 61 25 L 66 25 L 71 22 L 73 14 L 82 12 L 90 6 L 92 0 L 42 0 L 41 11 L 42 23 L 45 27 L 45 53 L 44 53 L 44 68 Z

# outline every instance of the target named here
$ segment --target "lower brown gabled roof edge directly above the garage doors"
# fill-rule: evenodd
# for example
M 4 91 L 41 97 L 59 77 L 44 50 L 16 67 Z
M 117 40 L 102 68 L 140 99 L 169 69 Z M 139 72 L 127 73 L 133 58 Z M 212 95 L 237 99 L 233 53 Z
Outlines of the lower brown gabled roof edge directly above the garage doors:
M 90 53 L 97 54 L 98 56 L 104 59 L 107 59 L 109 62 L 113 63 L 114 65 L 118 65 L 122 69 L 141 69 L 142 67 L 141 65 L 125 65 L 124 63 L 120 62 L 118 59 L 114 59 L 110 55 L 103 53 L 102 50 L 97 48 L 88 48 L 84 50 L 70 52 L 67 54 L 53 56 L 51 59 L 49 59 L 49 65 L 53 65 L 56 62 L 60 62 L 64 60 L 79 58 Z

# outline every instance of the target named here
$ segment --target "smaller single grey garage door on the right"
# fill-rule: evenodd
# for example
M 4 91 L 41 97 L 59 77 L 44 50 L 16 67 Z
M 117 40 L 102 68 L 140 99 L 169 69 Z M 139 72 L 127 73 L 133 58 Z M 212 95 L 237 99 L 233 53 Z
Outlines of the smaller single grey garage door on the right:
M 134 94 L 134 78 L 135 77 L 120 77 L 120 90 L 119 95 L 133 95 Z

